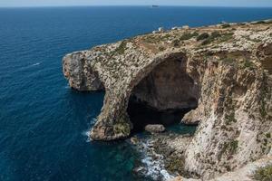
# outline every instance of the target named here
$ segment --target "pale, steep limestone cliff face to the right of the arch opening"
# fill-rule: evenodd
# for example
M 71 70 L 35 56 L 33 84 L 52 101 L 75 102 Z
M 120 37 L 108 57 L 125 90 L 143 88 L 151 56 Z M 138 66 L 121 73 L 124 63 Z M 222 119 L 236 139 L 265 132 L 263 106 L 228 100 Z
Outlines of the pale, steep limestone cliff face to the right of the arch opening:
M 201 82 L 201 94 L 199 107 L 185 119 L 200 124 L 185 153 L 185 167 L 200 176 L 230 171 L 269 152 L 271 77 L 254 64 L 245 66 L 254 59 L 247 53 L 224 52 L 241 62 L 228 64 L 210 57 L 204 69 L 196 69 L 195 63 L 189 66 Z

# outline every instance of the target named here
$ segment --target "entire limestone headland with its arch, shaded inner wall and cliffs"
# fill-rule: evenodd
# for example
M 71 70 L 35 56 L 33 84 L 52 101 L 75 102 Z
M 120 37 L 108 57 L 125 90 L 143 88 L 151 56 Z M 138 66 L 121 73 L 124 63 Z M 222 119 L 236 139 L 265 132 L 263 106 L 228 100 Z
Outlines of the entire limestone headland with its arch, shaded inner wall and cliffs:
M 199 122 L 184 169 L 210 178 L 270 151 L 271 65 L 269 21 L 152 33 L 73 52 L 63 58 L 63 73 L 75 90 L 106 92 L 94 140 L 130 135 L 131 96 L 157 110 L 197 108 L 182 119 Z

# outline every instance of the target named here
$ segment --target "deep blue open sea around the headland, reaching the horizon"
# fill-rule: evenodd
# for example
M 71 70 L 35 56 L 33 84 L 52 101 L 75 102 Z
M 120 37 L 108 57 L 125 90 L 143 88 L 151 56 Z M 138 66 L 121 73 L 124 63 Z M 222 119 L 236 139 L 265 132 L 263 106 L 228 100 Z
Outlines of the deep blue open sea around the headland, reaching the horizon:
M 69 88 L 65 53 L 160 26 L 268 18 L 271 8 L 0 8 L 0 180 L 145 180 L 132 172 L 140 156 L 128 141 L 88 141 L 104 93 Z

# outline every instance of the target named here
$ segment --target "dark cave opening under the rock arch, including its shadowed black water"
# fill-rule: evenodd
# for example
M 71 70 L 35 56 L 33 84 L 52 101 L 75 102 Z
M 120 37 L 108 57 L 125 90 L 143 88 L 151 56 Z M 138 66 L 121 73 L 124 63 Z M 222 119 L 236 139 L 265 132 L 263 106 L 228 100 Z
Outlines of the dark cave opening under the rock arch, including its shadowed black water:
M 132 132 L 148 124 L 170 126 L 198 107 L 199 87 L 186 71 L 187 58 L 181 53 L 160 62 L 132 90 L 128 114 Z

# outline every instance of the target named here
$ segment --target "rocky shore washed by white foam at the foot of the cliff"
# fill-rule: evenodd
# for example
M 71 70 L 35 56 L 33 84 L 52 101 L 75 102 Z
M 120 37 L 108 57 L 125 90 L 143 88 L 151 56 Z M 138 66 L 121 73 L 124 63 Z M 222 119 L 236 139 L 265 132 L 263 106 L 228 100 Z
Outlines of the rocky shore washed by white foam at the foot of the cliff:
M 180 138 L 184 140 L 182 145 L 185 146 L 192 137 L 189 134 L 179 135 L 170 132 L 151 134 L 143 138 L 132 137 L 131 144 L 143 156 L 141 158 L 143 166 L 134 168 L 136 175 L 143 177 L 150 176 L 153 180 L 167 181 L 176 176 L 189 176 L 182 169 L 182 165 L 184 164 L 182 150 L 169 147 L 173 139 Z

